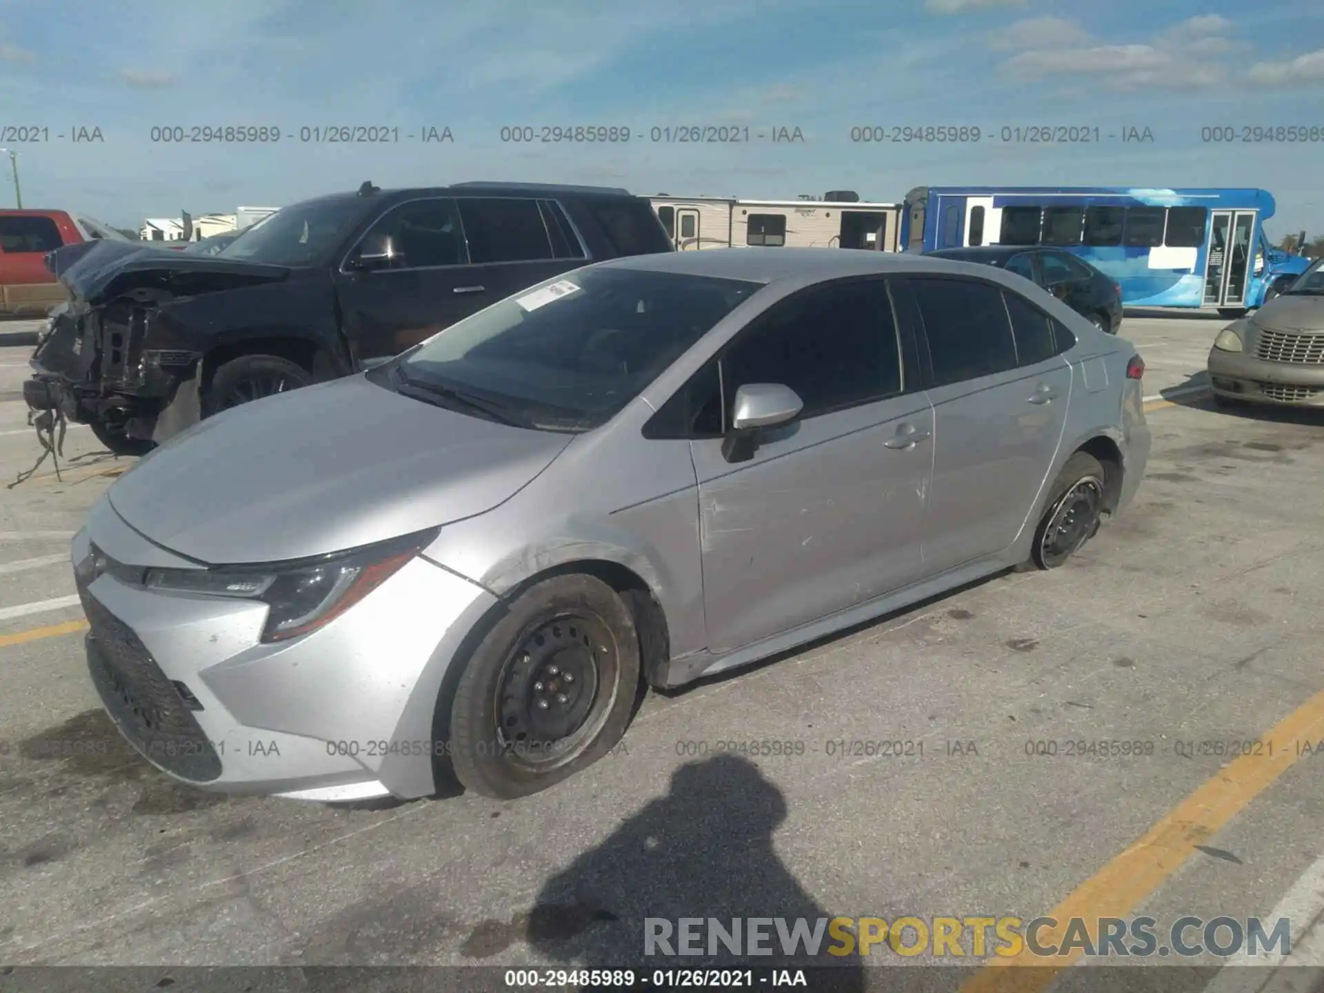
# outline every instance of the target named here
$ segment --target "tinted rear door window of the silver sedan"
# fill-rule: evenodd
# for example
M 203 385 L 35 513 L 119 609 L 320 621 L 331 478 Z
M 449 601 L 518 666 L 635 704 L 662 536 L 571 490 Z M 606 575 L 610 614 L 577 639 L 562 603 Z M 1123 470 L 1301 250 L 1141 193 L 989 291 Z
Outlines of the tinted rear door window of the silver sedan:
M 974 279 L 911 279 L 928 339 L 933 385 L 1014 369 L 1016 340 L 996 286 Z

